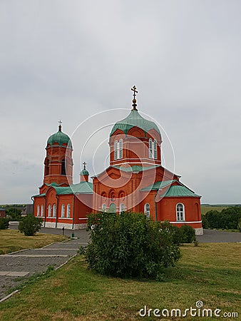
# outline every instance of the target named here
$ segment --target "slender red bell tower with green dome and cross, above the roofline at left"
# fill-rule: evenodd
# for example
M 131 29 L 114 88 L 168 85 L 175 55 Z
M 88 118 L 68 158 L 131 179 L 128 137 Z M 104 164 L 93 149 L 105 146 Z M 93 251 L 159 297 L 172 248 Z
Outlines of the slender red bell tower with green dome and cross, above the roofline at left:
M 48 138 L 44 160 L 43 184 L 73 183 L 73 159 L 71 139 L 62 132 L 61 121 L 58 131 Z

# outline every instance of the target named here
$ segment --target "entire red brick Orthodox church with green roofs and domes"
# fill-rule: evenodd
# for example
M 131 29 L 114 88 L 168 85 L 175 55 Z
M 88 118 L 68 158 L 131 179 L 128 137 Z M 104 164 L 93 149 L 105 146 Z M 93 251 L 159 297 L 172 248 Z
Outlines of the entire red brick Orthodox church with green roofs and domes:
M 92 182 L 84 162 L 80 182 L 73 184 L 73 147 L 61 123 L 48 138 L 43 185 L 39 195 L 33 196 L 34 215 L 43 219 L 43 226 L 86 228 L 88 213 L 132 210 L 178 227 L 190 225 L 197 235 L 203 233 L 200 195 L 161 165 L 160 130 L 140 116 L 135 86 L 132 91 L 130 113 L 110 133 L 110 165 Z

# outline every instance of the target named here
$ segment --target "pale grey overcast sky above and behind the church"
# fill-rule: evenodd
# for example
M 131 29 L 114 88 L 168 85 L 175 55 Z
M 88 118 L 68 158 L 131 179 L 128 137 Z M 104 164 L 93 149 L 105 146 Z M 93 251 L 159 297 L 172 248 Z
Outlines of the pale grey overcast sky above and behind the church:
M 240 16 L 239 0 L 1 0 L 0 204 L 39 192 L 59 119 L 74 182 L 106 168 L 133 85 L 165 167 L 202 203 L 241 203 Z

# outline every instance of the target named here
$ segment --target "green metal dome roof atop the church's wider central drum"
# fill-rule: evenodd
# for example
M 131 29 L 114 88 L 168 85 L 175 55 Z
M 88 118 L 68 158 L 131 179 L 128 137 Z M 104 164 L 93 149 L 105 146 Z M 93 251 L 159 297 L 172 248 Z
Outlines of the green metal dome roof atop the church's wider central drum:
M 155 131 L 157 131 L 160 135 L 159 128 L 153 121 L 148 121 L 148 119 L 145 119 L 142 116 L 140 116 L 140 113 L 138 113 L 136 109 L 133 109 L 132 111 L 130 111 L 127 117 L 125 117 L 121 121 L 118 121 L 113 126 L 110 136 L 112 136 L 117 129 L 120 129 L 120 131 L 123 131 L 126 135 L 130 128 L 133 128 L 135 126 L 143 129 L 145 133 L 147 133 L 151 129 L 155 129 Z

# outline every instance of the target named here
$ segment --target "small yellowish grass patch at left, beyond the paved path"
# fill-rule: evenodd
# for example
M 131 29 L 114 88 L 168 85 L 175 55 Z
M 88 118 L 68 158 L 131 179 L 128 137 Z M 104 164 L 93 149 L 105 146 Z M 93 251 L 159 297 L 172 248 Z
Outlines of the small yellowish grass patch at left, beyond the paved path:
M 36 233 L 25 236 L 19 230 L 0 230 L 0 254 L 11 253 L 25 248 L 42 248 L 45 245 L 66 240 L 66 236 Z

